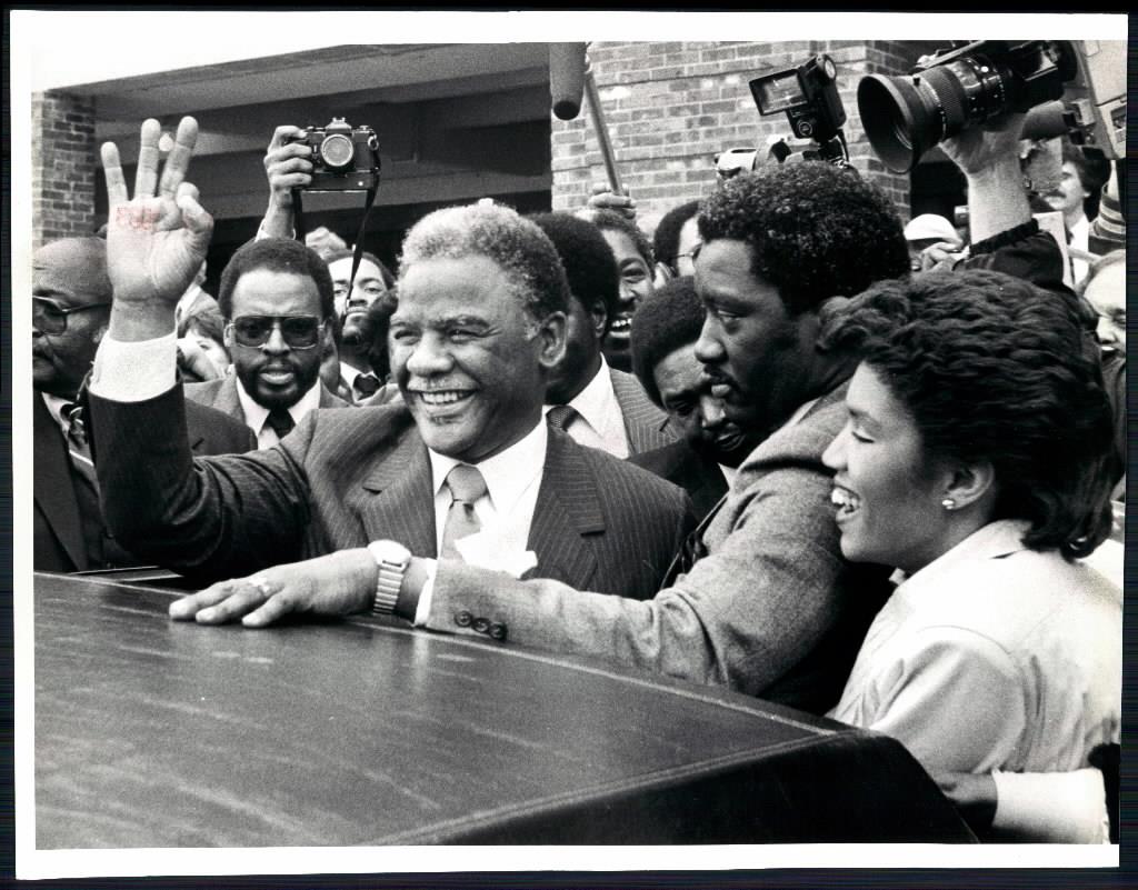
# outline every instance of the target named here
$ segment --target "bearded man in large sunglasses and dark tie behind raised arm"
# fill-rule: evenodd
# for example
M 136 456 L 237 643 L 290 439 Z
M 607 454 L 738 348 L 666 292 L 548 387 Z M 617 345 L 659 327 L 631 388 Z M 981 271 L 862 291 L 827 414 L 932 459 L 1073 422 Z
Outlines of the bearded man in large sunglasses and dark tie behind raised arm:
M 271 448 L 316 407 L 346 407 L 320 381 L 333 310 L 328 266 L 284 238 L 242 246 L 222 272 L 217 304 L 233 373 L 188 384 L 185 396 L 240 420 Z

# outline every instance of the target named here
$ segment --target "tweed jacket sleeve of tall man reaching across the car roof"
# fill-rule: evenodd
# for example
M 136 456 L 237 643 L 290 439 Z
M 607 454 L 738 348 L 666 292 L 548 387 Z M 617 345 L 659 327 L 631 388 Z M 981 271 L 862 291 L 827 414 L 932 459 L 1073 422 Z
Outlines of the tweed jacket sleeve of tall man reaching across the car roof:
M 485 617 L 517 643 L 759 694 L 841 615 L 830 489 L 820 464 L 769 469 L 726 542 L 643 602 L 440 562 L 428 626 Z

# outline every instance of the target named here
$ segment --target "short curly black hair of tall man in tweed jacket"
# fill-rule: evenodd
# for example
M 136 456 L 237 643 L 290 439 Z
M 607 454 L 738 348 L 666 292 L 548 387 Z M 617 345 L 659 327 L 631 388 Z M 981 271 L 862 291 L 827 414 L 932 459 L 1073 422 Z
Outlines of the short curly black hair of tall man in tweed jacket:
M 831 164 L 766 167 L 728 180 L 700 206 L 700 238 L 744 241 L 751 271 L 794 313 L 909 271 L 901 217 L 885 193 Z

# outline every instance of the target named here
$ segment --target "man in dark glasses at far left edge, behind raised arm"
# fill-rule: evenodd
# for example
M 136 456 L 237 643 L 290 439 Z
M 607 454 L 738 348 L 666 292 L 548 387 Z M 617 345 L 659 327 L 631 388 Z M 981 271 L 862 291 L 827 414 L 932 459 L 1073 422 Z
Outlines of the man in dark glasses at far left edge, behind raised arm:
M 101 238 L 52 241 L 32 258 L 34 436 L 33 565 L 39 571 L 137 566 L 106 530 L 86 438 L 83 382 L 107 331 L 110 280 Z M 193 405 L 187 432 L 195 454 L 254 447 L 242 425 Z

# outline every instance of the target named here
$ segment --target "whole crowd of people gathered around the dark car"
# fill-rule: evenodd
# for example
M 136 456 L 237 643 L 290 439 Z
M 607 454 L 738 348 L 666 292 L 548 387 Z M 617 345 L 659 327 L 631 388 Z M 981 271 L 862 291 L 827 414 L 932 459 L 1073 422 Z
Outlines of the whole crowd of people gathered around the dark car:
M 159 170 L 148 121 L 105 233 L 35 253 L 35 567 L 725 686 L 896 736 L 981 838 L 1106 840 L 1124 253 L 1040 231 L 1021 123 L 943 143 L 963 236 L 791 163 L 654 240 L 622 196 L 436 211 L 394 273 L 296 240 L 282 126 L 214 300 L 196 123 Z

